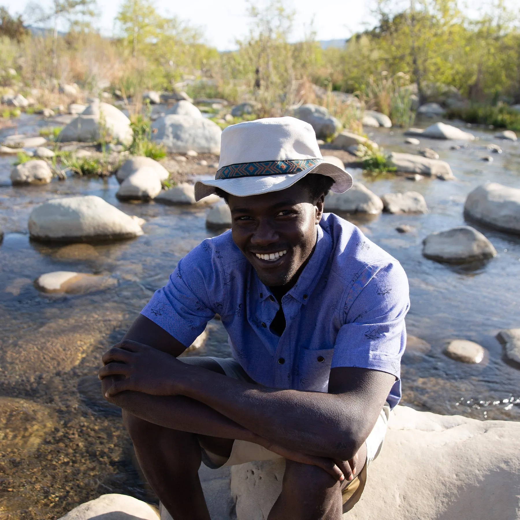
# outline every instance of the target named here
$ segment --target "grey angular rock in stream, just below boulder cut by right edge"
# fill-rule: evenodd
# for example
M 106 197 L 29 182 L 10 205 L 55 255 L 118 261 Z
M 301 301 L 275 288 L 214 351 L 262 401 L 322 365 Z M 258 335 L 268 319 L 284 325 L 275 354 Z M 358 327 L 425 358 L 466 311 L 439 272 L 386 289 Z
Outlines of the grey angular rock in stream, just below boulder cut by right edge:
M 497 251 L 476 229 L 458 226 L 428 235 L 423 240 L 423 255 L 437 262 L 463 264 L 492 258 Z

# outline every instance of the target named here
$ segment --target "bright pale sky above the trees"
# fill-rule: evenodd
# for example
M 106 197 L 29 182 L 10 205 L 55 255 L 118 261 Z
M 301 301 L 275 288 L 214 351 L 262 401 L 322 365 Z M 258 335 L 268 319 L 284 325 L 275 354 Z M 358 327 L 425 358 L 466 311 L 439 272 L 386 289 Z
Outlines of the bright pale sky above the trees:
M 9 12 L 23 14 L 29 0 L 0 0 L 0 6 Z M 51 0 L 38 0 L 46 7 Z M 488 4 L 490 0 L 471 0 L 467 11 L 474 13 L 477 8 Z M 96 20 L 103 35 L 113 34 L 113 20 L 122 0 L 98 0 L 99 18 Z M 256 6 L 265 5 L 267 0 L 255 0 Z M 285 6 L 296 11 L 291 41 L 301 40 L 311 27 L 316 32 L 317 40 L 339 40 L 348 38 L 355 32 L 372 27 L 374 19 L 367 0 L 285 0 Z M 506 0 L 511 7 L 518 6 L 518 0 Z M 248 2 L 246 0 L 155 0 L 155 8 L 163 16 L 177 16 L 202 29 L 207 44 L 218 50 L 231 50 L 235 41 L 245 36 L 248 30 Z

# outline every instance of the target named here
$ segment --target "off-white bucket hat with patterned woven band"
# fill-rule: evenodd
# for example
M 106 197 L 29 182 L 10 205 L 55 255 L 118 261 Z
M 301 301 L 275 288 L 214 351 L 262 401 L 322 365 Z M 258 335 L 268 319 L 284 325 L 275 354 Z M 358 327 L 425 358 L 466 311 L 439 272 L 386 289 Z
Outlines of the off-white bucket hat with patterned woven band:
M 309 173 L 331 177 L 334 193 L 352 187 L 349 173 L 323 161 L 314 129 L 305 121 L 291 117 L 244 121 L 222 132 L 215 179 L 198 180 L 195 199 L 215 193 L 216 188 L 238 197 L 279 191 Z

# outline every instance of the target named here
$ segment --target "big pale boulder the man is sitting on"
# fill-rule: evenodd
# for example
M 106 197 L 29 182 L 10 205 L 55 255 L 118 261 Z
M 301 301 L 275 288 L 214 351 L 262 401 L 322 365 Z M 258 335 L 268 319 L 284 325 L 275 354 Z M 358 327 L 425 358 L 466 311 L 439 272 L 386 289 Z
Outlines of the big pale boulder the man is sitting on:
M 360 501 L 345 520 L 520 518 L 520 423 L 398 406 Z M 237 520 L 265 520 L 283 460 L 231 468 Z M 397 470 L 396 470 L 397 469 Z M 483 492 L 483 489 L 486 492 Z

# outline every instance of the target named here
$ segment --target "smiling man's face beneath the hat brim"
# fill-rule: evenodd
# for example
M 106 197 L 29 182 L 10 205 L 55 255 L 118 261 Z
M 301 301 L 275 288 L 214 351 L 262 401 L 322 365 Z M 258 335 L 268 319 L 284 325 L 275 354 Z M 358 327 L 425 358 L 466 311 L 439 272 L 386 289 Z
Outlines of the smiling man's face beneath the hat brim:
M 233 241 L 268 287 L 285 285 L 313 251 L 323 197 L 297 184 L 250 197 L 229 196 Z

